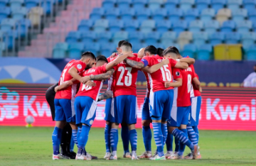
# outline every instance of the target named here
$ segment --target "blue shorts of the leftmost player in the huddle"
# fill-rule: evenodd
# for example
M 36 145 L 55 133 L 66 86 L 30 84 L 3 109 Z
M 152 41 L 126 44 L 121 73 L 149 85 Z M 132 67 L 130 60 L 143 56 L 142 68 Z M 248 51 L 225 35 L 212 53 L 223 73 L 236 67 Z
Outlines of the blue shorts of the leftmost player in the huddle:
M 75 110 L 70 99 L 54 99 L 55 121 L 75 122 Z

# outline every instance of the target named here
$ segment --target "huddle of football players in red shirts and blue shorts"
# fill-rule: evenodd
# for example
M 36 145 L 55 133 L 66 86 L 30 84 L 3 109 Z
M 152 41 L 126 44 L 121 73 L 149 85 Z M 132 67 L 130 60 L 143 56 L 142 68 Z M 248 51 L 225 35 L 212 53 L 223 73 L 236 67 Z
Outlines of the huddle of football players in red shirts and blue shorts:
M 201 109 L 201 86 L 190 57 L 182 57 L 178 49 L 166 50 L 149 45 L 138 53 L 132 44 L 122 40 L 117 53 L 97 58 L 84 52 L 80 60 L 65 66 L 58 87 L 55 87 L 55 128 L 53 131 L 53 160 L 62 159 L 60 138 L 68 122 L 73 141 L 78 146 L 76 160 L 92 160 L 86 150 L 88 135 L 95 120 L 97 101 L 105 104 L 106 160 L 117 160 L 118 127 L 124 147 L 123 157 L 139 160 L 200 159 L 198 120 Z M 145 152 L 137 155 L 137 75 L 144 72 L 147 81 L 142 109 L 142 135 Z M 103 82 L 108 79 L 107 92 L 100 95 Z M 156 151 L 151 150 L 151 128 Z M 175 140 L 175 150 L 173 150 Z M 129 145 L 132 153 L 129 152 Z M 164 153 L 166 145 L 167 152 Z M 183 157 L 188 146 L 191 153 Z

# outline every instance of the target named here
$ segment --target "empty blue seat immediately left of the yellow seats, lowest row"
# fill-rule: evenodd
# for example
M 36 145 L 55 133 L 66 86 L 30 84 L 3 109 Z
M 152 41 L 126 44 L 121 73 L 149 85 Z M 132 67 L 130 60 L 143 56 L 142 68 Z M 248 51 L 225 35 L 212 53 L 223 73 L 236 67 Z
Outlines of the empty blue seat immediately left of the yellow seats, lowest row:
M 210 55 L 213 48 L 212 45 L 201 45 L 197 50 L 197 60 L 210 60 Z

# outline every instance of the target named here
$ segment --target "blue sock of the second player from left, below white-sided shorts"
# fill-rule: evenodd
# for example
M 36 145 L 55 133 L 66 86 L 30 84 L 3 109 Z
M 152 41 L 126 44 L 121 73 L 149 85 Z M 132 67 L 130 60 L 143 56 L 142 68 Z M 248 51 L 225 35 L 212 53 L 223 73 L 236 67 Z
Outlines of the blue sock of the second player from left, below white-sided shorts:
M 89 135 L 90 127 L 89 126 L 82 126 L 82 131 L 79 135 L 78 138 L 78 154 L 82 154 L 85 151 L 85 145 L 88 140 L 88 135 Z

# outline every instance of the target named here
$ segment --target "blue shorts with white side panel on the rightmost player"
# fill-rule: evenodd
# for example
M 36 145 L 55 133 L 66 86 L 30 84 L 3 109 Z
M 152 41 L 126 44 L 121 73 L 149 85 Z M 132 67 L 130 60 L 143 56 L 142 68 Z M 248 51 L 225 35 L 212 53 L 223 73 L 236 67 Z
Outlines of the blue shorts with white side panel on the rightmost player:
M 201 102 L 201 96 L 191 98 L 191 111 L 188 116 L 188 126 L 198 126 Z

